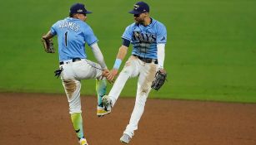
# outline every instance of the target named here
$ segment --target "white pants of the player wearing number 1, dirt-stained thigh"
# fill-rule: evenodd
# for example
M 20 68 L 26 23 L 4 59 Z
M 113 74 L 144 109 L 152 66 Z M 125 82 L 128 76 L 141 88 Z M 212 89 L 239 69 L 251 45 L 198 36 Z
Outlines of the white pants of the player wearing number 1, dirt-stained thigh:
M 68 97 L 69 114 L 81 113 L 80 89 L 81 80 L 100 78 L 102 75 L 101 66 L 93 61 L 82 59 L 73 62 L 72 60 L 63 61 L 61 73 L 63 87 Z M 97 69 L 99 68 L 99 69 Z

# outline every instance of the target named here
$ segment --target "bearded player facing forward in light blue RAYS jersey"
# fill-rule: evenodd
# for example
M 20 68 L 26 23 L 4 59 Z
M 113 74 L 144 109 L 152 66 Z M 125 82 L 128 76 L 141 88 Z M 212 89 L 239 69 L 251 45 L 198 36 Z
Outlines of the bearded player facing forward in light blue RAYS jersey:
M 113 80 L 118 74 L 119 66 L 127 54 L 130 43 L 133 45 L 132 56 L 129 57 L 118 75 L 109 94 L 103 96 L 105 109 L 111 111 L 128 78 L 138 76 L 135 106 L 128 126 L 120 138 L 122 143 L 129 143 L 134 131 L 138 129 L 138 121 L 143 114 L 154 76 L 157 70 L 164 71 L 164 47 L 167 41 L 166 27 L 149 16 L 149 7 L 146 2 L 137 2 L 129 13 L 133 14 L 135 22 L 126 27 L 123 32 L 123 45 L 119 48 L 117 59 L 108 79 Z

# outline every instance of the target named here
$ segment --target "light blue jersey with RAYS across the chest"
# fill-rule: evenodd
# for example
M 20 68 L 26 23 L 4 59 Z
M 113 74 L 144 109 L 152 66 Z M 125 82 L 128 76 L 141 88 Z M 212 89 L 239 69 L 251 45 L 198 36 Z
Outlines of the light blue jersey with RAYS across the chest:
M 123 39 L 133 44 L 132 54 L 143 58 L 158 59 L 157 44 L 165 44 L 167 41 L 167 31 L 163 23 L 151 18 L 152 22 L 144 27 L 135 22 L 126 27 L 123 32 Z

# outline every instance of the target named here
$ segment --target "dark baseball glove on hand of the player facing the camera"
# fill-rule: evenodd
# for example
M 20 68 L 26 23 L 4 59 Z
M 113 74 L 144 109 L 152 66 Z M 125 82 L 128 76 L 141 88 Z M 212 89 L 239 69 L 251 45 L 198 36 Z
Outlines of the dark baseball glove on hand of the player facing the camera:
M 156 90 L 160 89 L 164 81 L 166 80 L 166 77 L 167 74 L 165 72 L 161 72 L 160 70 L 158 70 L 152 82 L 151 88 Z

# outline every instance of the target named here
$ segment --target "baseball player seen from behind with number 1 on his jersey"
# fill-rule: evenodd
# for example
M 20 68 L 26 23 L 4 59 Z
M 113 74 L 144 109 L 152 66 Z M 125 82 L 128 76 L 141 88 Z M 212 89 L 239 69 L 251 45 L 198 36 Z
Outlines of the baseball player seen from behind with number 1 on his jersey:
M 109 111 L 103 109 L 102 104 L 107 83 L 106 80 L 101 80 L 102 76 L 107 76 L 109 71 L 98 47 L 98 39 L 94 36 L 92 28 L 85 22 L 88 13 L 92 12 L 87 11 L 82 3 L 73 4 L 70 7 L 69 17 L 54 23 L 47 35 L 43 36 L 45 40 L 58 36 L 60 76 L 68 97 L 69 114 L 71 114 L 73 128 L 80 145 L 88 145 L 83 134 L 80 100 L 81 80 L 97 79 L 97 115 L 109 114 Z M 92 48 L 98 64 L 87 59 L 86 43 Z

